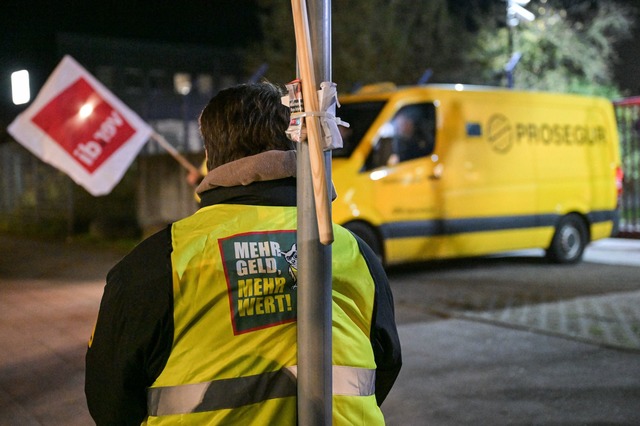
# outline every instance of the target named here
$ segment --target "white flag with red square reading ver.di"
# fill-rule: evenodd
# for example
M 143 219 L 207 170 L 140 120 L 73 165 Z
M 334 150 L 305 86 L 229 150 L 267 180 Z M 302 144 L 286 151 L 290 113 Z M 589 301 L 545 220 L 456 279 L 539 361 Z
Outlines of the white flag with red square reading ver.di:
M 68 55 L 7 130 L 94 196 L 113 189 L 152 133 Z

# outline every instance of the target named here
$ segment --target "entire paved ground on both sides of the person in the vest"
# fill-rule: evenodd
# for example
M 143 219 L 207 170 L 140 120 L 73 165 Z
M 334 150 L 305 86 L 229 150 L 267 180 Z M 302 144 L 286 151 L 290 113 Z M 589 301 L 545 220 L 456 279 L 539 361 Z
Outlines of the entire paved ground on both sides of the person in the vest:
M 600 251 L 390 270 L 404 366 L 387 423 L 640 424 L 640 244 Z M 121 255 L 0 236 L 0 425 L 92 424 L 84 352 Z

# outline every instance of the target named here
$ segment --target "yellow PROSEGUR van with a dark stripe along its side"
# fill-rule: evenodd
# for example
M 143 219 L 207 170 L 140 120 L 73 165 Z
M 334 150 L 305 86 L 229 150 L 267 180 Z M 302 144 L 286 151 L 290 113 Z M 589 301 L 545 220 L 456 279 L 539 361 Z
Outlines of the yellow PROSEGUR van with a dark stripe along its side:
M 386 265 L 546 249 L 573 263 L 616 232 L 611 102 L 508 89 L 379 85 L 340 97 L 333 218 Z

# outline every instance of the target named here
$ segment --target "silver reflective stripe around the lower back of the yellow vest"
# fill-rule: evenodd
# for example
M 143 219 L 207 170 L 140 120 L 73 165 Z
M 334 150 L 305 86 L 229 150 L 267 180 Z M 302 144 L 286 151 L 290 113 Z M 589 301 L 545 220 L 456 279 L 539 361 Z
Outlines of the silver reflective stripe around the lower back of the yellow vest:
M 255 376 L 149 388 L 148 412 L 150 416 L 200 413 L 296 396 L 297 370 L 297 366 L 292 366 Z M 334 365 L 332 370 L 334 395 L 375 393 L 375 370 L 340 365 Z

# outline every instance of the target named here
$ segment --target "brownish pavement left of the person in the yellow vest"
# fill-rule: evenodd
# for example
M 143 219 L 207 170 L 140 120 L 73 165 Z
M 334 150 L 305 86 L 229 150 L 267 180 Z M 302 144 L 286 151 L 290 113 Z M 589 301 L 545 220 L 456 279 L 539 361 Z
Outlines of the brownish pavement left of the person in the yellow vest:
M 0 235 L 0 426 L 94 424 L 84 355 L 121 254 Z

